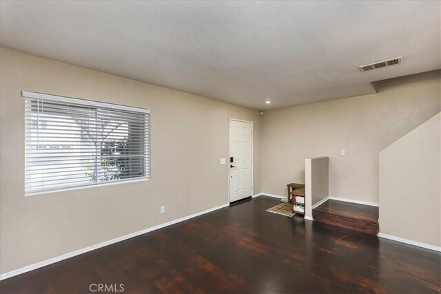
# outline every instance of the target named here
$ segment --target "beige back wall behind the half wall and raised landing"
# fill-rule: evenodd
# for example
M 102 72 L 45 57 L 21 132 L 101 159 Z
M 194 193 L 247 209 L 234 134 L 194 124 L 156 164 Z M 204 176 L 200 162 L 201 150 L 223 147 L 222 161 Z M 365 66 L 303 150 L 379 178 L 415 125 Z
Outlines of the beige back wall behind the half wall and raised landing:
M 329 196 L 378 203 L 378 154 L 440 112 L 440 71 L 376 86 L 378 94 L 265 112 L 263 191 L 284 196 L 287 183 L 305 182 L 305 158 L 329 156 Z

